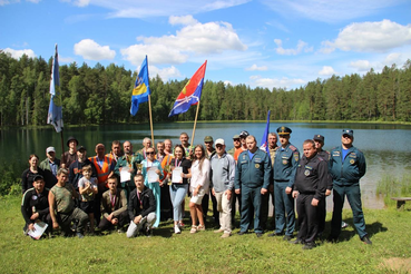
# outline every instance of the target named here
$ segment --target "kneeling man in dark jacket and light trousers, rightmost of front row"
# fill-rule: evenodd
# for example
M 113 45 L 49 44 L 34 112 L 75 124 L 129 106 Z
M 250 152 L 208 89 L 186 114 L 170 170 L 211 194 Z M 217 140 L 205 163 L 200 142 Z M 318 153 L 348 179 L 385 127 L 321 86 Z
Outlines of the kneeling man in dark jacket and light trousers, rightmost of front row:
M 134 177 L 136 189 L 130 193 L 128 216 L 131 222 L 127 229 L 127 237 L 135 237 L 139 232 L 153 235 L 153 224 L 156 222 L 156 199 L 153 190 L 144 185 L 144 177 L 137 174 Z

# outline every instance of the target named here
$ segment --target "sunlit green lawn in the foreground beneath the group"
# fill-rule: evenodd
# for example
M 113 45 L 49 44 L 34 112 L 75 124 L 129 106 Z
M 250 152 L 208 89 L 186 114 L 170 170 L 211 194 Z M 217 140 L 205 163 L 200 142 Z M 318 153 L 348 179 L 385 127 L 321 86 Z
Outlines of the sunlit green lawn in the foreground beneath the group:
M 170 223 L 162 224 L 150 238 L 112 233 L 32 241 L 22 235 L 20 199 L 2 197 L 0 273 L 405 273 L 404 267 L 390 271 L 384 260 L 410 260 L 411 205 L 403 212 L 365 209 L 364 214 L 372 246 L 359 239 L 351 211 L 343 214 L 350 227 L 343 229 L 342 241 L 312 251 L 266 234 L 222 239 L 212 228 L 192 235 L 187 226 L 174 235 Z M 330 217 L 329 213 L 327 226 Z

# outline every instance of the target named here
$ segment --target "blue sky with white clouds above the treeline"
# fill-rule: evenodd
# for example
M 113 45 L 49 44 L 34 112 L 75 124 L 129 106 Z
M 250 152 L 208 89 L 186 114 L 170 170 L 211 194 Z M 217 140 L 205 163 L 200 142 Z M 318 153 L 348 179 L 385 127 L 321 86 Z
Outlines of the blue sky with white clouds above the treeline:
M 0 0 L 0 49 L 150 77 L 296 88 L 411 59 L 409 0 Z

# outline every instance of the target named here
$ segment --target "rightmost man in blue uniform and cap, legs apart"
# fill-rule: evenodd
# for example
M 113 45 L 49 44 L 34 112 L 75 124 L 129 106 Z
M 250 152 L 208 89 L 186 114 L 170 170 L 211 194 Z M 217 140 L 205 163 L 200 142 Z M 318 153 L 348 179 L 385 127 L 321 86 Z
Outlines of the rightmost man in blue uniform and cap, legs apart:
M 353 141 L 354 131 L 343 129 L 342 146 L 335 147 L 330 153 L 329 169 L 333 178 L 334 211 L 329 241 L 335 242 L 340 236 L 341 214 L 346 196 L 353 213 L 354 226 L 361 241 L 365 244 L 372 244 L 365 232 L 365 219 L 361 205 L 360 178 L 365 174 L 365 157 L 362 151 L 352 145 Z

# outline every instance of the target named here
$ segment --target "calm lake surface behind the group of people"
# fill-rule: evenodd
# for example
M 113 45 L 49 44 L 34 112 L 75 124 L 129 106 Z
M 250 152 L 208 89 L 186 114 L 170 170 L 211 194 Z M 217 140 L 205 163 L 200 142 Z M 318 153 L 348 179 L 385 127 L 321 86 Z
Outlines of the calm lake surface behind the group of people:
M 313 138 L 315 134 L 325 137 L 326 150 L 341 145 L 341 130 L 351 128 L 354 130 L 354 146 L 362 150 L 366 158 L 366 174 L 361 180 L 362 199 L 368 208 L 382 208 L 382 200 L 376 198 L 375 188 L 378 180 L 383 176 L 401 177 L 404 173 L 411 174 L 411 126 L 384 125 L 384 124 L 310 124 L 310 123 L 271 123 L 271 131 L 280 126 L 290 127 L 293 133 L 290 141 L 302 153 L 302 144 L 305 139 Z M 227 150 L 233 147 L 232 137 L 242 130 L 254 135 L 260 145 L 265 129 L 265 123 L 199 123 L 197 124 L 194 145 L 203 144 L 205 136 L 214 139 L 224 138 Z M 173 144 L 178 144 L 180 133 L 187 133 L 192 137 L 193 123 L 184 124 L 155 124 L 155 141 L 169 138 Z M 88 156 L 95 155 L 95 146 L 98 143 L 106 145 L 109 150 L 112 140 L 121 143 L 130 140 L 134 150 L 143 147 L 143 138 L 150 137 L 148 124 L 143 125 L 112 125 L 94 127 L 66 128 L 63 131 L 65 149 L 66 140 L 75 136 L 79 144 L 88 149 Z M 0 164 L 13 165 L 18 170 L 28 168 L 28 157 L 35 153 L 40 160 L 46 158 L 46 148 L 56 147 L 58 157 L 61 155 L 60 134 L 50 126 L 47 129 L 8 129 L 0 131 Z M 189 140 L 190 141 L 190 140 Z M 331 197 L 329 197 L 331 205 Z

